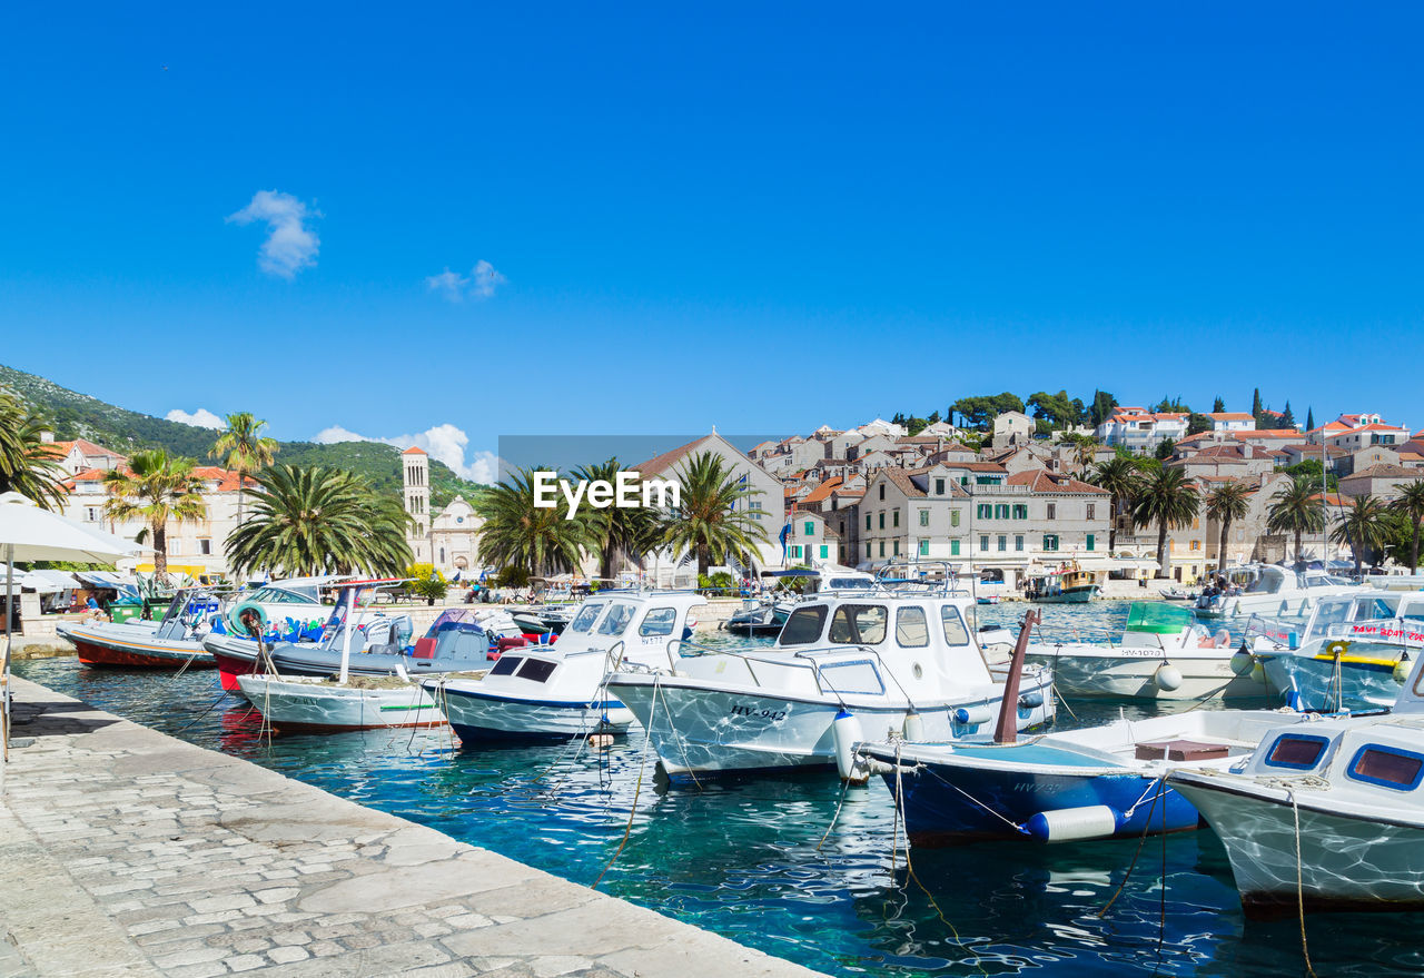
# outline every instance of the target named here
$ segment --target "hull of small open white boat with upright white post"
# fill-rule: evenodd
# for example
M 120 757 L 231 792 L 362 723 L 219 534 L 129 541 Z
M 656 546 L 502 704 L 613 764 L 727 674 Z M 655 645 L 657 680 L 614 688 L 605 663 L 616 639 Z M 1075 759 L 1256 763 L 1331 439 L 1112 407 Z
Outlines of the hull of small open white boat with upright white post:
M 246 675 L 238 685 L 248 702 L 281 732 L 336 733 L 446 723 L 440 706 L 419 683 L 403 689 L 355 689 Z

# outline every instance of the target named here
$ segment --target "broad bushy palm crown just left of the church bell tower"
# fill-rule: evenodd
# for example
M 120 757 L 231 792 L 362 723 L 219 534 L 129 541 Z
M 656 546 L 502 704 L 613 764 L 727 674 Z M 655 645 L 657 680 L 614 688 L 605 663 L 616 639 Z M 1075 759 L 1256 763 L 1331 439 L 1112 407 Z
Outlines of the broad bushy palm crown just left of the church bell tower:
M 273 466 L 256 474 L 252 517 L 228 534 L 234 571 L 402 574 L 412 562 L 400 501 L 342 468 Z

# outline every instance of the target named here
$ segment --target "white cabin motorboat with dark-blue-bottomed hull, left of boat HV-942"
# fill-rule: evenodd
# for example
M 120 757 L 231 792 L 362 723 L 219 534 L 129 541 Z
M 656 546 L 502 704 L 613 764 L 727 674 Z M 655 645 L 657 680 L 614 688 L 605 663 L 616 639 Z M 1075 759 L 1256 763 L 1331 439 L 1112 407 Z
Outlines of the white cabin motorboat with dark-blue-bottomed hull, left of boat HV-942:
M 686 591 L 600 591 L 557 645 L 507 649 L 473 679 L 427 679 L 464 743 L 624 733 L 634 713 L 608 692 L 614 668 L 669 662 L 669 643 L 692 633 L 706 599 Z

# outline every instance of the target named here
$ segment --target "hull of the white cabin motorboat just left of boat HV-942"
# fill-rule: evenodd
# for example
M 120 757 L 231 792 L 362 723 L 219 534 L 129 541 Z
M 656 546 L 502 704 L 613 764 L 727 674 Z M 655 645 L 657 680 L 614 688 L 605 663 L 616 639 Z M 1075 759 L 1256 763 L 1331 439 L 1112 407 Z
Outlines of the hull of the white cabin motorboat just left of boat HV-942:
M 588 733 L 627 733 L 634 715 L 617 699 L 533 700 L 427 682 L 464 743 L 567 740 Z

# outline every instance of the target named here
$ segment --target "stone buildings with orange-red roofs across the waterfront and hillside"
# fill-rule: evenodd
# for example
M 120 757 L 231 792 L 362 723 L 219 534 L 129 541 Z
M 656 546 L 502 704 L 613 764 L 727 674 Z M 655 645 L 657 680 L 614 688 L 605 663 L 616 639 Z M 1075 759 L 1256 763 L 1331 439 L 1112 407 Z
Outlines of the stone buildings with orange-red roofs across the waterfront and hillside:
M 721 458 L 726 473 L 746 485 L 738 505 L 763 530 L 750 565 L 736 568 L 743 574 L 826 565 L 874 571 L 887 561 L 921 559 L 1014 587 L 1067 561 L 1104 581 L 1159 578 L 1182 585 L 1237 564 L 1350 561 L 1350 545 L 1333 531 L 1351 501 L 1390 503 L 1404 487 L 1424 481 L 1424 431 L 1378 414 L 1341 414 L 1310 430 L 1260 428 L 1249 413 L 1205 417 L 1210 428 L 1193 434 L 1186 413 L 1136 406 L 1112 409 L 1095 428 L 1048 434 L 1022 411 L 997 414 L 983 428 L 936 420 L 914 434 L 876 419 L 749 450 L 713 430 L 628 468 L 645 478 L 678 478 L 693 456 Z M 64 512 L 125 538 L 141 537 L 142 515 L 117 520 L 107 505 L 112 491 L 105 474 L 124 468 L 127 458 L 84 438 L 41 437 L 64 473 Z M 1159 521 L 1135 515 L 1134 501 L 1115 498 L 1104 484 L 1104 464 L 1119 457 L 1179 471 L 1203 498 L 1223 485 L 1240 487 L 1243 511 L 1230 518 L 1225 537 L 1222 518 L 1205 504 L 1190 518 L 1169 522 L 1159 559 Z M 1272 530 L 1272 504 L 1306 463 L 1319 466 L 1313 471 L 1324 473 L 1330 488 L 1324 491 L 1317 474 L 1312 498 L 1326 524 L 1306 534 L 1296 554 L 1290 532 Z M 413 562 L 454 581 L 498 569 L 481 557 L 486 518 L 474 503 L 457 495 L 431 507 L 429 464 L 419 447 L 402 454 Z M 167 567 L 194 578 L 229 574 L 226 541 L 239 525 L 239 487 L 249 500 L 261 487 L 219 466 L 197 466 L 192 475 L 201 517 L 167 525 Z M 145 551 L 128 569 L 152 572 L 154 541 L 141 542 Z M 652 547 L 624 557 L 618 569 L 648 584 L 696 584 L 685 554 Z M 597 555 L 568 569 L 594 577 Z

